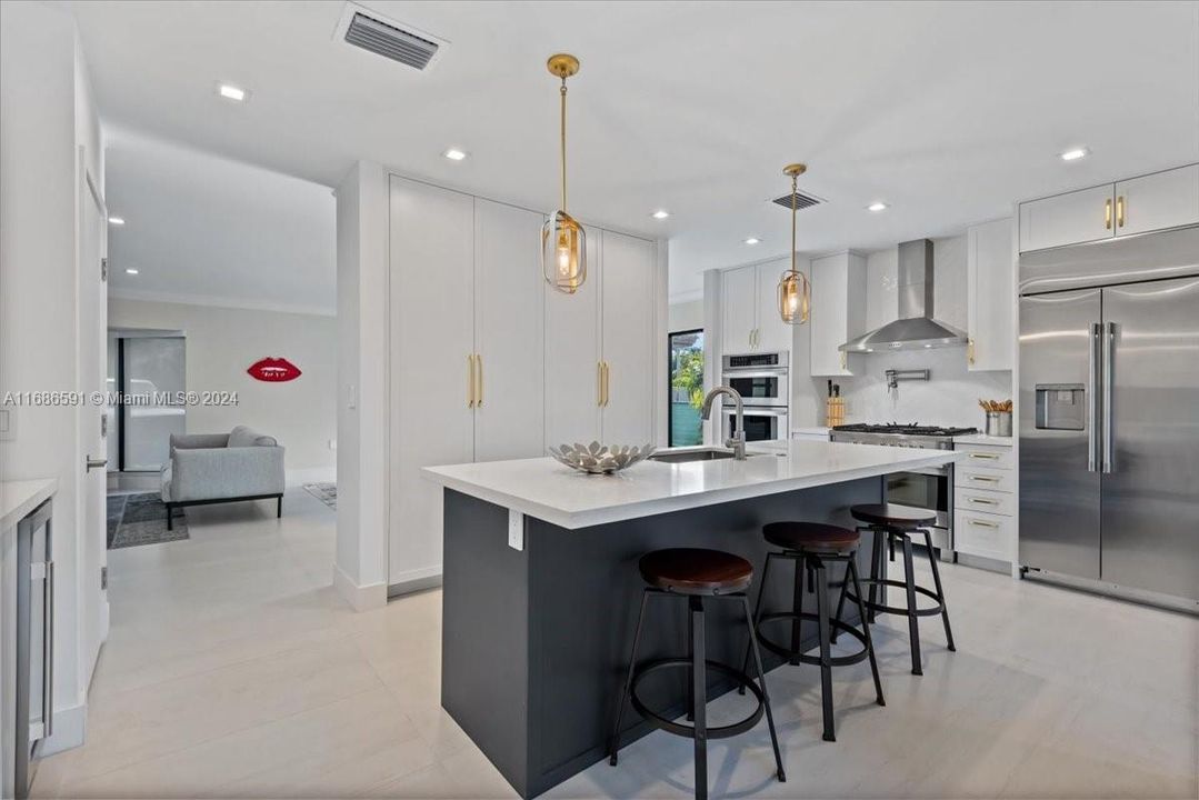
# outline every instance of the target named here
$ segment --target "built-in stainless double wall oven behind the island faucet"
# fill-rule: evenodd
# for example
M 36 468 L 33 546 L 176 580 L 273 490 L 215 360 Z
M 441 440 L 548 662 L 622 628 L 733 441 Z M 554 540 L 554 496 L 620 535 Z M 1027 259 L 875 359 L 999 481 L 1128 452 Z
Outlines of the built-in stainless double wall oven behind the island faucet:
M 721 383 L 736 390 L 745 405 L 746 441 L 787 439 L 791 402 L 790 354 L 779 350 L 727 355 L 722 367 Z M 736 410 L 728 399 L 723 403 L 721 421 L 727 440 L 736 432 Z

